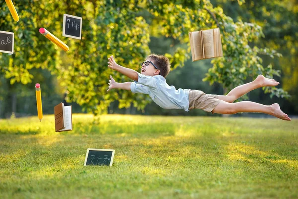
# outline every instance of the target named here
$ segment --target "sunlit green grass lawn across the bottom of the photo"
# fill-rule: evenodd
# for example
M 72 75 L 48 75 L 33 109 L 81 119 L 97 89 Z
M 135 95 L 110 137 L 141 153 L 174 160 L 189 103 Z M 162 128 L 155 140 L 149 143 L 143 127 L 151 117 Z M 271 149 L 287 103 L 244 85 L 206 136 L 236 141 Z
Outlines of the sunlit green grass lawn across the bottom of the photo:
M 83 166 L 87 148 L 113 166 Z M 298 198 L 298 119 L 74 114 L 0 120 L 0 198 Z

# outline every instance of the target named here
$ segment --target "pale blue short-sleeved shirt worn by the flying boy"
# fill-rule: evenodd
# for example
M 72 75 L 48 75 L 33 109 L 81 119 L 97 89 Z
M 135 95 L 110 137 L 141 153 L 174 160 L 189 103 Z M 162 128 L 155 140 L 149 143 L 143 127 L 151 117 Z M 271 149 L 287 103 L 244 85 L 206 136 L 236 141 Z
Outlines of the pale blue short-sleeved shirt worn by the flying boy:
M 161 75 L 148 76 L 138 73 L 138 82 L 131 84 L 133 93 L 149 94 L 152 100 L 164 109 L 184 109 L 188 111 L 190 89 L 178 89 L 169 86 Z

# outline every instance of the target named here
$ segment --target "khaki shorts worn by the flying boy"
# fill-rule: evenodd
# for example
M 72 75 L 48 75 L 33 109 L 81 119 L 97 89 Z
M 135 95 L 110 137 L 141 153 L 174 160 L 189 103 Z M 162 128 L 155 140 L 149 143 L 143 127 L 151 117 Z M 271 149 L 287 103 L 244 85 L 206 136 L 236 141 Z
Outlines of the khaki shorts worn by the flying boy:
M 190 90 L 188 95 L 189 110 L 201 109 L 206 112 L 212 112 L 213 109 L 222 101 L 217 95 L 205 94 L 200 90 Z

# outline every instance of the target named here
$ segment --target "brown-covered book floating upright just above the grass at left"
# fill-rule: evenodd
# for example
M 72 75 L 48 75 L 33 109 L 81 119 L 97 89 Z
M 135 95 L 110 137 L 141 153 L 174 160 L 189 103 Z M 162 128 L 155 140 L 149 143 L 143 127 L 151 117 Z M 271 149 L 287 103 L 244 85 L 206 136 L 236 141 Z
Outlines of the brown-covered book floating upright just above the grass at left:
M 54 107 L 54 116 L 56 132 L 73 130 L 72 106 L 64 106 L 63 103 L 59 103 Z

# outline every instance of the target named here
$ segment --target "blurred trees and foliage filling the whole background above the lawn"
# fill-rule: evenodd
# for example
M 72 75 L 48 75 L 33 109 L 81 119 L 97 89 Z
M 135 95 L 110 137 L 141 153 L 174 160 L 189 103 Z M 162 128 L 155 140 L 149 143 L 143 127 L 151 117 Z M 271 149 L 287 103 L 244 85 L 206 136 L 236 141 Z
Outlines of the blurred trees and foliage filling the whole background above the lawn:
M 4 2 L 4 1 L 3 1 Z M 210 115 L 201 110 L 165 110 L 149 96 L 130 91 L 107 93 L 107 57 L 140 71 L 150 53 L 166 54 L 176 89 L 224 95 L 258 74 L 280 84 L 240 100 L 279 103 L 298 115 L 298 2 L 296 0 L 88 1 L 15 0 L 20 21 L 0 5 L 0 30 L 14 32 L 14 54 L 0 53 L 0 118 L 37 115 L 35 83 L 40 83 L 44 114 L 60 102 L 74 113 Z M 82 39 L 62 36 L 63 14 L 83 18 Z M 38 32 L 48 29 L 69 47 L 64 52 Z M 223 58 L 191 61 L 188 32 L 220 27 Z M 247 46 L 248 45 L 248 46 Z M 282 56 L 281 56 L 282 55 Z M 205 78 L 205 81 L 203 79 Z M 212 84 L 211 84 L 212 83 Z M 237 116 L 266 116 L 237 114 Z

